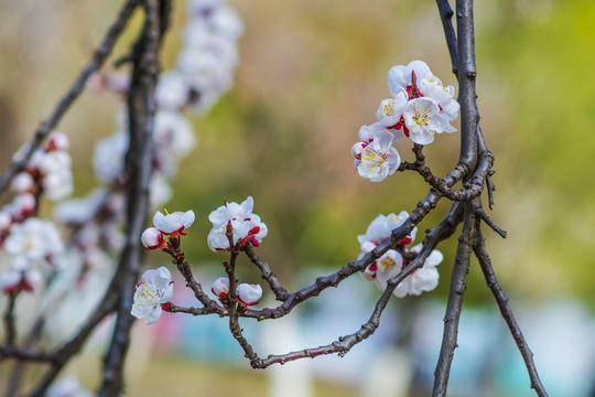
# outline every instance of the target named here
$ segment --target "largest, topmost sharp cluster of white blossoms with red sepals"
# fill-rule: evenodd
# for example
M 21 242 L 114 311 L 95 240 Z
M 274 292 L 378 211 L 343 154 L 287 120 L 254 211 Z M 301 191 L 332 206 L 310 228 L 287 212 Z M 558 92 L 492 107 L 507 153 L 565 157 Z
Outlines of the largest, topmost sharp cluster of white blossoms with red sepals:
M 444 86 L 422 61 L 393 66 L 387 81 L 392 97 L 380 103 L 377 121 L 360 128 L 359 142 L 351 148 L 357 171 L 372 182 L 385 180 L 399 168 L 401 159 L 393 142 L 407 137 L 416 144 L 428 144 L 435 133 L 454 132 L 450 121 L 459 109 L 454 87 Z

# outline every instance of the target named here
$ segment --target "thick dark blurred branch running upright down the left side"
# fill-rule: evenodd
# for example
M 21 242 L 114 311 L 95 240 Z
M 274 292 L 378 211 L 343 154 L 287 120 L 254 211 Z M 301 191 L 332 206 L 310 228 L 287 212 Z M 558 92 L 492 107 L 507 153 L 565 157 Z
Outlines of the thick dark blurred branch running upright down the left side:
M 115 283 L 119 293 L 116 326 L 104 362 L 104 379 L 98 396 L 118 396 L 123 388 L 123 365 L 129 346 L 133 318 L 134 283 L 141 269 L 142 234 L 149 212 L 149 187 L 152 173 L 153 93 L 159 75 L 158 51 L 162 37 L 159 0 L 144 1 L 144 28 L 138 42 L 141 50 L 134 67 L 128 96 L 130 146 L 126 155 L 127 242 L 122 249 Z

